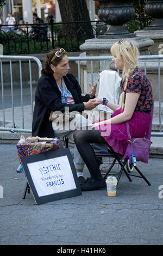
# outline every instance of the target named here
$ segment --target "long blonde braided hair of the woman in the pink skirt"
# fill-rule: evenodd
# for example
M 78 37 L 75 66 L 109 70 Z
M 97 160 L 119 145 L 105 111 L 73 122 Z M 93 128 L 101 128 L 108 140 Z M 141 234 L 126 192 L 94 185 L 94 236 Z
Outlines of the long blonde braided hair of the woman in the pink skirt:
M 122 78 L 124 81 L 124 91 L 120 95 L 119 104 L 123 108 L 124 106 L 124 95 L 127 88 L 127 83 L 134 69 L 136 68 L 137 59 L 139 58 L 139 50 L 131 40 L 123 40 L 121 42 L 116 42 L 111 47 L 112 56 L 121 59 L 122 61 Z

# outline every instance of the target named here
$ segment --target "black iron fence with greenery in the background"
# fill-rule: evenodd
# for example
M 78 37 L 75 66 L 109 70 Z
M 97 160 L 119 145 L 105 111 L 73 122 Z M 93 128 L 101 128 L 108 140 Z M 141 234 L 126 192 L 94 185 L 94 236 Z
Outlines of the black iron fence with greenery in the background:
M 131 33 L 142 29 L 152 22 L 149 17 L 136 18 L 124 24 Z M 79 51 L 79 46 L 86 39 L 97 38 L 108 29 L 101 21 L 58 22 L 2 25 L 0 27 L 0 42 L 3 44 L 3 54 L 33 54 L 46 53 L 59 46 L 67 52 Z

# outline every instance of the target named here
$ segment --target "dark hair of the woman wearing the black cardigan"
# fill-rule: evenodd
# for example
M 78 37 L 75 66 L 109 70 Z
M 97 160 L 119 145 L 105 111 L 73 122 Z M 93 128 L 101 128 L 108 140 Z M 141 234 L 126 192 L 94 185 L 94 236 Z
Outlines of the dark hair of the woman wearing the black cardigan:
M 60 48 L 55 48 L 51 51 L 49 51 L 46 55 L 46 58 L 43 62 L 43 68 L 41 70 L 41 74 L 45 74 L 47 76 L 52 76 L 53 75 L 53 70 L 51 69 L 51 64 L 53 64 L 54 66 L 57 66 L 62 58 L 67 55 L 67 52 L 61 53 L 60 57 L 56 57 L 52 62 L 51 59 L 54 57 L 55 52 L 59 51 Z

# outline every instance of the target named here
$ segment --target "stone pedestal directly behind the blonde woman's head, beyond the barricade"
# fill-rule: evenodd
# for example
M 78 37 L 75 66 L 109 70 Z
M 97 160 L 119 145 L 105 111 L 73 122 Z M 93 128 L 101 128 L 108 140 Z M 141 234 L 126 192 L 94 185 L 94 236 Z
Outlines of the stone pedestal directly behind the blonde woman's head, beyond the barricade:
M 80 50 L 83 53 L 80 56 L 111 56 L 110 48 L 111 46 L 119 41 L 120 39 L 88 39 L 84 44 L 80 45 Z M 147 38 L 146 36 L 135 36 L 130 38 L 139 48 L 141 55 L 151 54 L 148 50 L 150 46 L 154 44 L 152 39 Z M 106 70 L 112 70 L 111 68 L 112 61 L 106 61 Z M 97 83 L 97 92 L 99 88 L 99 73 L 104 70 L 104 61 L 94 61 L 93 62 L 93 83 Z M 90 62 L 81 62 L 80 63 L 80 76 L 81 76 L 81 87 L 84 93 L 89 92 L 89 82 L 91 82 L 91 63 Z

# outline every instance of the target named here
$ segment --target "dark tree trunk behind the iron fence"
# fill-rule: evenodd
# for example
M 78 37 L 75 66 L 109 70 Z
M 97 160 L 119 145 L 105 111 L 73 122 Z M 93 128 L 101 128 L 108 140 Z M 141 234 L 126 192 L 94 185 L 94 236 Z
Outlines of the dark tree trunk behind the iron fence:
M 85 0 L 58 0 L 62 22 L 90 21 Z M 85 40 L 93 37 L 90 22 L 70 23 L 64 28 L 66 38 Z

